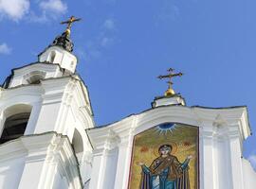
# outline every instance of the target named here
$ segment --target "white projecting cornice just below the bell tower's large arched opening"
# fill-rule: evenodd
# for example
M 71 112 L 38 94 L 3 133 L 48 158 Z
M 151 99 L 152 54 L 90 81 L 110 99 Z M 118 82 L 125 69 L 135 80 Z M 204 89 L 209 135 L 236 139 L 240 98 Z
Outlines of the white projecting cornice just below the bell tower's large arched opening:
M 78 178 L 82 187 L 82 178 L 75 152 L 67 136 L 54 131 L 22 136 L 0 145 L 0 163 L 16 158 L 24 158 L 27 162 L 51 161 L 61 163 L 70 182 Z M 68 166 L 67 166 L 68 164 Z M 74 171 L 75 170 L 75 171 Z

